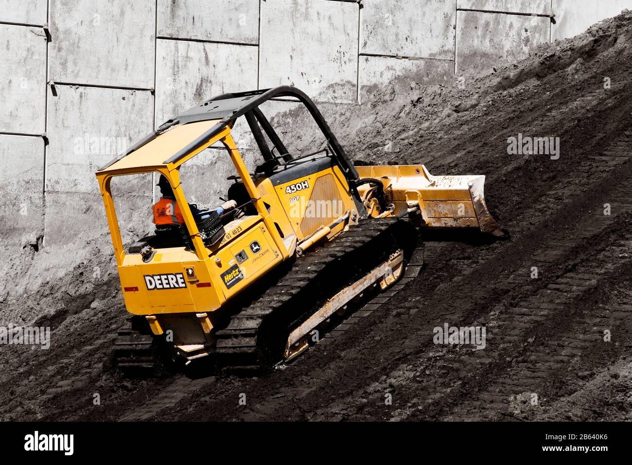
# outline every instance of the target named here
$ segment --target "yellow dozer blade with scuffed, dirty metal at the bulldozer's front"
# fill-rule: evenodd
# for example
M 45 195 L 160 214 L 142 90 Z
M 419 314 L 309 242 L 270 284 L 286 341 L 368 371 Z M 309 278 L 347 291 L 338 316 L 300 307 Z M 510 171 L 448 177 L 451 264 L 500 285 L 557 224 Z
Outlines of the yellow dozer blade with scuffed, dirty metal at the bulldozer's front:
M 485 176 L 433 176 L 423 164 L 357 166 L 361 178 L 377 178 L 392 198 L 394 214 L 419 205 L 425 228 L 478 228 L 497 237 L 505 235 L 485 204 Z M 360 195 L 368 189 L 363 185 Z

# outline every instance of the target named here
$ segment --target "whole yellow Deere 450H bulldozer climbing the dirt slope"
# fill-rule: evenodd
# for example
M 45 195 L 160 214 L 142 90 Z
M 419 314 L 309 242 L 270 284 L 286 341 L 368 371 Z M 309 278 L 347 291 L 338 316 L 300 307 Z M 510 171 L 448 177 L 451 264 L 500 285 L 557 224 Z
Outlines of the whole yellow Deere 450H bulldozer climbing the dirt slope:
M 302 104 L 323 146 L 289 153 L 260 108 L 270 99 Z M 241 116 L 262 155 L 253 173 L 231 135 Z M 200 210 L 187 201 L 181 167 L 218 143 L 236 175 L 222 206 Z M 161 177 L 179 218 L 172 211 L 171 224 L 124 245 L 111 181 L 139 173 Z M 96 176 L 131 314 L 115 342 L 121 369 L 154 367 L 157 345 L 185 364 L 260 369 L 289 361 L 339 315 L 418 266 L 424 230 L 504 234 L 485 206 L 484 176 L 353 166 L 312 100 L 289 86 L 213 97 Z

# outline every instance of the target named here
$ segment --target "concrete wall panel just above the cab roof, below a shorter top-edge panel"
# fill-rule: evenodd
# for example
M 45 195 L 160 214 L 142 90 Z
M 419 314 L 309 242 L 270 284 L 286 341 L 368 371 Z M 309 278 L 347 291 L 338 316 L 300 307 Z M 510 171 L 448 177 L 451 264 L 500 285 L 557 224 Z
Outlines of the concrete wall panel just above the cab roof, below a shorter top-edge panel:
M 257 47 L 158 39 L 156 50 L 157 127 L 214 95 L 257 89 Z M 247 127 L 233 128 L 239 147 L 253 146 Z

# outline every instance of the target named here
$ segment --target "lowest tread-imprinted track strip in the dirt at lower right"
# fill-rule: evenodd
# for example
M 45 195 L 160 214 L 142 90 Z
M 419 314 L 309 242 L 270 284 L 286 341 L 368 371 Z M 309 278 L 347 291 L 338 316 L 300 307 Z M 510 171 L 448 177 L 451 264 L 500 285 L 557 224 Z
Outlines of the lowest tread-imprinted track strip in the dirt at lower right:
M 621 247 L 626 248 L 623 254 Z M 629 289 L 611 292 L 621 283 L 629 285 L 632 257 L 628 251 L 631 249 L 632 235 L 626 235 L 595 257 L 593 263 L 583 264 L 577 270 L 580 276 L 595 276 L 593 273 L 598 270 L 595 265 L 611 267 L 614 264 L 609 272 L 598 280 L 582 281 L 573 276 L 570 285 L 559 284 L 576 304 L 565 307 L 569 314 L 564 314 L 563 322 L 559 321 L 563 309 L 557 310 L 556 335 L 547 338 L 545 334 L 534 332 L 528 340 L 530 344 L 512 358 L 502 378 L 471 395 L 444 419 L 530 419 L 548 409 L 559 397 L 580 388 L 585 380 L 603 369 L 607 359 L 632 353 L 625 347 L 629 344 L 625 326 L 632 323 L 632 305 L 626 302 L 630 302 L 632 292 Z M 614 263 L 612 254 L 616 257 Z M 585 302 L 586 297 L 588 302 Z M 605 304 L 598 303 L 602 299 L 606 300 Z M 525 310 L 531 313 L 532 309 Z M 544 320 L 543 323 L 551 322 Z M 598 356 L 602 353 L 607 357 Z

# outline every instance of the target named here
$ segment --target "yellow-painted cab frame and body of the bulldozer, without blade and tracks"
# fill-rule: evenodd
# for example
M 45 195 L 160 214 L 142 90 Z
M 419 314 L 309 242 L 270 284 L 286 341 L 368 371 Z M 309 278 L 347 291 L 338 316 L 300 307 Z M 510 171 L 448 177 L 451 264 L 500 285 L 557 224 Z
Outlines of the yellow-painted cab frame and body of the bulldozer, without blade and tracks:
M 171 131 L 185 127 L 179 126 L 171 129 Z M 338 193 L 337 197 L 343 201 L 346 211 L 353 211 L 354 213 L 349 217 L 348 221 L 340 223 L 335 230 L 332 230 L 330 235 L 340 232 L 349 222 L 353 222 L 355 219 L 355 205 L 351 201 L 348 185 L 337 166 L 278 186 L 272 186 L 272 183 L 267 178 L 255 184 L 230 132 L 231 127 L 224 128 L 216 137 L 209 139 L 207 143 L 174 163 L 152 164 L 151 161 L 145 159 L 143 149 L 139 149 L 138 153 L 135 152 L 127 158 L 112 164 L 106 170 L 97 173 L 101 195 L 106 207 L 107 222 L 112 237 L 112 244 L 114 245 L 121 287 L 124 291 L 125 304 L 130 313 L 156 315 L 176 313 L 205 314 L 212 312 L 224 305 L 234 295 L 239 294 L 243 288 L 255 282 L 259 276 L 264 275 L 277 264 L 288 259 L 294 253 L 296 241 L 304 239 L 307 234 L 301 232 L 300 227 L 298 227 L 300 225 L 298 218 L 296 219 L 297 221 L 294 221 L 293 218 L 289 218 L 287 215 L 281 216 L 279 214 L 281 212 L 287 213 L 290 207 L 289 205 L 279 205 L 282 200 L 279 199 L 275 189 L 283 192 L 286 189 L 286 185 L 294 185 L 301 183 L 303 180 L 312 180 L 312 178 L 325 175 L 334 175 L 338 181 L 335 185 L 339 189 L 343 189 Z M 157 137 L 155 144 L 161 143 L 161 137 L 168 133 L 166 132 Z M 188 208 L 188 202 L 186 201 L 179 177 L 179 167 L 216 142 L 222 142 L 228 150 L 238 176 L 243 181 L 246 191 L 252 199 L 252 204 L 257 210 L 257 216 L 247 216 L 243 220 L 233 222 L 234 224 L 229 223 L 226 226 L 224 239 L 218 245 L 209 249 L 200 239 L 195 218 L 190 208 Z M 150 142 L 150 144 L 152 143 Z M 150 144 L 147 144 L 148 147 L 145 149 L 145 152 L 152 150 L 153 147 Z M 137 159 L 137 163 L 130 163 L 134 158 Z M 155 158 L 156 156 L 153 157 L 153 159 Z M 143 164 L 146 165 L 143 166 Z M 140 254 L 127 254 L 125 252 L 112 198 L 111 180 L 121 175 L 152 172 L 160 173 L 166 177 L 173 188 L 186 227 L 191 234 L 194 250 L 188 251 L 185 247 L 159 249 L 156 251 L 152 261 L 145 263 Z M 310 182 L 310 186 L 313 186 L 313 182 Z M 308 194 L 309 192 L 306 192 L 306 195 Z M 272 213 L 269 213 L 264 200 L 272 206 L 270 208 Z M 281 208 L 274 208 L 277 206 Z M 298 212 L 298 217 L 301 214 L 302 212 Z M 281 232 L 277 229 L 277 225 L 279 225 Z M 282 232 L 286 240 L 281 237 Z M 291 235 L 294 235 L 295 238 L 288 240 L 288 236 Z M 260 244 L 261 251 L 250 257 L 245 263 L 236 264 L 234 258 L 236 251 L 248 251 L 248 244 L 253 240 L 257 240 L 258 244 Z M 248 251 L 248 254 L 250 254 L 250 251 Z M 253 263 L 253 261 L 258 263 Z M 231 287 L 227 287 L 224 282 L 226 276 L 222 278 L 222 275 L 234 266 L 237 266 L 234 273 L 241 273 L 243 279 L 240 279 L 239 282 L 231 285 Z M 191 276 L 194 276 L 194 280 L 189 280 L 190 275 L 187 274 L 187 270 L 191 269 L 193 270 Z M 143 276 L 159 275 L 167 276 L 167 278 L 163 279 L 167 279 L 168 283 L 168 275 L 176 273 L 182 273 L 183 278 L 187 280 L 186 287 L 172 287 L 170 292 L 162 292 L 156 295 L 154 290 L 149 290 L 143 282 Z M 205 319 L 205 316 L 200 318 Z M 154 318 L 149 321 L 154 333 L 162 333 L 159 319 Z

